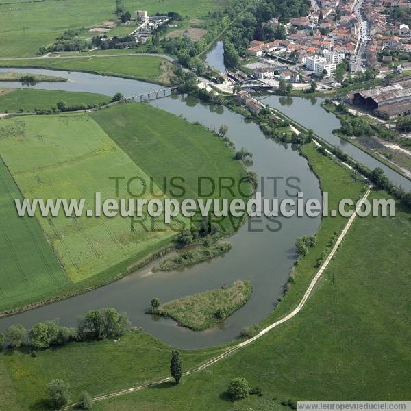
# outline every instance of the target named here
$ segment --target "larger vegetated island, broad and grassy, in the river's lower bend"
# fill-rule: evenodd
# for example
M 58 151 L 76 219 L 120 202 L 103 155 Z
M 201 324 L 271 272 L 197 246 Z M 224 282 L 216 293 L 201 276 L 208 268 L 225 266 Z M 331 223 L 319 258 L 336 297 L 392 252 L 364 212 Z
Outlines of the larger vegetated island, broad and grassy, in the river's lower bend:
M 183 327 L 195 331 L 213 327 L 238 308 L 244 306 L 251 296 L 253 286 L 249 281 L 236 281 L 229 288 L 200 292 L 158 306 L 151 301 L 150 314 L 169 316 Z

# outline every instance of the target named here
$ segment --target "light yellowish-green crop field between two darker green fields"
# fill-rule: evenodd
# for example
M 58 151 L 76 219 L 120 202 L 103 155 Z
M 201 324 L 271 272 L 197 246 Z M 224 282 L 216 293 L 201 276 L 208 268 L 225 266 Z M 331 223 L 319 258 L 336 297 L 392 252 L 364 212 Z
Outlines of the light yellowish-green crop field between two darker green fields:
M 148 182 L 147 175 L 85 114 L 60 114 L 47 119 L 28 116 L 4 120 L 1 126 L 3 159 L 27 199 L 85 199 L 86 208 L 92 208 L 95 192 L 101 192 L 103 200 L 116 197 L 112 176 L 139 176 Z M 119 197 L 129 198 L 121 184 Z M 148 193 L 145 197 L 150 198 Z M 152 221 L 158 231 L 145 232 L 138 225 L 136 232 L 131 232 L 129 219 L 89 218 L 84 214 L 71 218 L 62 212 L 54 218 L 37 214 L 73 282 L 115 266 L 174 235 L 160 222 Z

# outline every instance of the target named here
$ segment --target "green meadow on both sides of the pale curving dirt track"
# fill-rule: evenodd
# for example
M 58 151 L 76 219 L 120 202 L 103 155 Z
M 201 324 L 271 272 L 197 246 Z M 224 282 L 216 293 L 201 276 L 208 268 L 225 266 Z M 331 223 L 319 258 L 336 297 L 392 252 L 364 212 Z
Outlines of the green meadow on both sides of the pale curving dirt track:
M 345 167 L 319 154 L 311 145 L 304 146 L 303 153 L 321 178 L 323 190 L 329 192 L 330 207 L 340 198 L 356 199 L 360 195 L 361 184 L 351 182 Z M 371 193 L 371 199 L 381 196 L 386 195 Z M 316 258 L 345 221 L 323 219 L 316 246 L 298 264 L 295 283 L 265 324 L 295 307 L 316 272 Z M 406 393 L 411 392 L 410 240 L 410 214 L 401 209 L 397 209 L 395 218 L 357 218 L 305 308 L 291 321 L 206 371 L 183 377 L 179 386 L 164 384 L 148 388 L 96 403 L 93 409 L 289 411 L 290 408 L 281 405 L 282 400 L 408 399 Z M 88 376 L 79 378 L 77 366 L 81 369 L 84 360 L 79 365 L 78 358 L 90 355 L 88 343 L 82 344 L 84 353 L 80 349 L 73 353 L 73 347 L 78 347 L 73 343 L 40 352 L 38 362 L 23 353 L 3 356 L 1 386 L 4 396 L 10 398 L 10 406 L 4 409 L 12 409 L 16 401 L 13 395 L 21 404 L 35 403 L 44 393 L 41 386 L 51 377 L 64 377 L 74 384 L 73 391 L 87 389 L 92 395 L 133 384 L 127 363 L 129 350 L 123 347 L 113 348 L 110 358 L 119 358 L 120 364 L 127 365 L 117 369 L 116 362 L 109 360 L 101 365 L 105 370 L 105 377 L 101 378 L 99 369 L 95 368 L 101 361 L 90 362 L 95 373 L 89 374 L 86 369 L 84 373 Z M 99 350 L 104 351 L 110 344 L 103 341 L 90 347 L 96 356 L 105 358 Z M 210 350 L 206 351 L 207 355 L 211 354 Z M 141 358 L 142 368 L 155 370 L 158 372 L 155 376 L 159 377 L 169 373 L 166 361 L 169 351 L 166 352 L 164 361 L 153 360 L 155 357 L 150 355 L 133 354 L 132 358 Z M 190 353 L 195 353 L 190 360 L 184 357 L 188 353 L 182 353 L 184 369 L 205 358 L 196 357 L 199 351 Z M 74 359 L 74 365 L 67 364 L 64 358 Z M 136 384 L 140 375 L 138 371 L 134 375 Z M 238 376 L 246 377 L 251 387 L 260 386 L 264 395 L 250 396 L 235 404 L 228 401 L 225 389 Z

